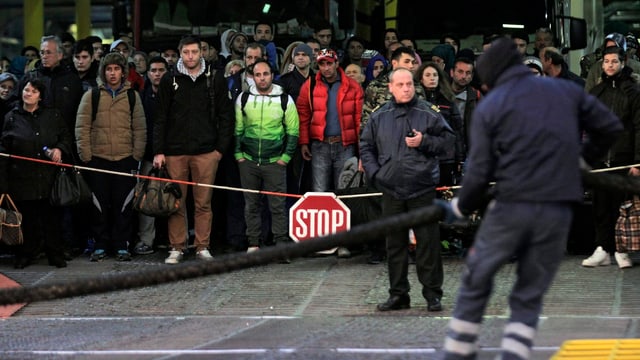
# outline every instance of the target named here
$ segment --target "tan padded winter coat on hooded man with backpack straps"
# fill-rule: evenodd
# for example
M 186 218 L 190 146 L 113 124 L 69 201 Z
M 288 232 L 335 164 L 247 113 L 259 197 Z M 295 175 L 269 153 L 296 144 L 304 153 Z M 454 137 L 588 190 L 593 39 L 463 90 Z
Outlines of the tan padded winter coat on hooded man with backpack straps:
M 133 156 L 140 161 L 147 142 L 147 124 L 140 95 L 135 92 L 136 103 L 131 115 L 129 82 L 112 96 L 111 91 L 100 85 L 100 101 L 96 119 L 92 119 L 91 91 L 82 96 L 76 121 L 76 143 L 80 160 L 89 162 L 98 157 L 118 161 Z

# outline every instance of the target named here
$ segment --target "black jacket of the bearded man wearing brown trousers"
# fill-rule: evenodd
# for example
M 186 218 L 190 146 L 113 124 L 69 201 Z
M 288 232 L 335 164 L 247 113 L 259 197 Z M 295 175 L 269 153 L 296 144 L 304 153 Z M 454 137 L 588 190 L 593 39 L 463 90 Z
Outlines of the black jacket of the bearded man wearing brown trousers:
M 176 69 L 175 75 L 167 72 L 160 80 L 153 124 L 154 155 L 199 155 L 214 150 L 225 154 L 232 149 L 234 114 L 227 83 L 222 71 L 210 74 L 215 98 L 215 109 L 211 109 L 208 73 L 207 68 L 194 81 Z

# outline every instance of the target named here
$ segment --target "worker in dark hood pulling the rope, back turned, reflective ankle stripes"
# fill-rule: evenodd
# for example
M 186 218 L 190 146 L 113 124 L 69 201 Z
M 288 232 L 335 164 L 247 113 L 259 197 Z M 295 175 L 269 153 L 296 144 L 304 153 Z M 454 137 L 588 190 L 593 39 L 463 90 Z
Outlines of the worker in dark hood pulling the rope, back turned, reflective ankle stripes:
M 534 76 L 510 39 L 495 40 L 478 59 L 477 71 L 488 93 L 471 122 L 468 169 L 458 197 L 438 205 L 451 223 L 484 207 L 488 192 L 492 200 L 466 258 L 444 358 L 476 358 L 493 277 L 515 256 L 517 278 L 500 358 L 529 359 L 573 205 L 583 199 L 581 164 L 604 156 L 622 124 L 573 82 Z

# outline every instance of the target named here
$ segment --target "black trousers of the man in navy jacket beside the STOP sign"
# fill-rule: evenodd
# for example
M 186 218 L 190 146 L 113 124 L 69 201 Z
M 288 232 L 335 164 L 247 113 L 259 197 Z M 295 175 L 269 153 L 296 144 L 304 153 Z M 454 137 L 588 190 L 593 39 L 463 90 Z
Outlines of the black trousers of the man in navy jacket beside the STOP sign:
M 395 199 L 391 195 L 382 197 L 382 216 L 388 217 L 429 206 L 435 199 L 435 191 L 409 200 Z M 426 300 L 442 297 L 444 270 L 440 256 L 440 229 L 438 222 L 413 228 L 416 235 L 416 272 L 422 284 L 422 296 Z M 407 251 L 409 231 L 387 235 L 387 263 L 389 266 L 389 294 L 406 295 L 410 285 L 407 277 Z

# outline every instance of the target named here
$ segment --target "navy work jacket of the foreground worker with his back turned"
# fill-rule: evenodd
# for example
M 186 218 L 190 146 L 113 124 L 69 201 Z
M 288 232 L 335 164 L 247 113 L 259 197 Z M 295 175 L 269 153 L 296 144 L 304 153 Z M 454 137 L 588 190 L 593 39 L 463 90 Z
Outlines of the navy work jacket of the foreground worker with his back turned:
M 575 83 L 534 76 L 523 64 L 483 80 L 494 86 L 473 113 L 460 211 L 481 208 L 492 181 L 498 201 L 582 201 L 579 159 L 593 164 L 606 154 L 622 130 L 617 117 Z M 581 143 L 582 130 L 591 136 Z

